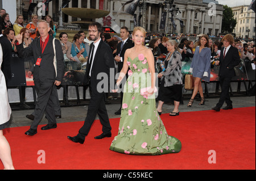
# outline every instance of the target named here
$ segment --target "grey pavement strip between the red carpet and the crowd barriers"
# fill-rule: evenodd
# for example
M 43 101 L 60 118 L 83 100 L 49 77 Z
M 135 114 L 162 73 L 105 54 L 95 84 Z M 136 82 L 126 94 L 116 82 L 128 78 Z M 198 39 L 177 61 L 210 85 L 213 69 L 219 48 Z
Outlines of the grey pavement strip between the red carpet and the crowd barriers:
M 231 100 L 233 101 L 233 108 L 239 107 L 252 107 L 255 106 L 255 96 L 232 96 Z M 180 104 L 179 111 L 180 114 L 182 112 L 189 111 L 203 111 L 210 110 L 212 107 L 216 105 L 218 102 L 218 97 L 215 98 L 206 98 L 205 105 L 199 106 L 200 98 L 196 99 L 193 103 L 192 107 L 187 107 L 189 99 L 184 99 L 183 104 Z M 106 104 L 106 108 L 108 110 L 109 118 L 120 117 L 120 115 L 115 115 L 114 112 L 117 111 L 121 104 L 120 99 L 108 99 L 108 103 Z M 81 101 L 81 104 L 78 106 L 65 106 L 64 103 L 61 103 L 61 118 L 57 119 L 57 123 L 67 123 L 72 121 L 84 121 L 88 109 L 88 100 Z M 71 104 L 77 104 L 76 101 L 71 102 Z M 158 105 L 158 101 L 156 101 L 156 106 Z M 224 107 L 226 105 L 224 104 Z M 23 127 L 31 125 L 32 121 L 27 119 L 26 115 L 30 115 L 34 110 L 33 108 L 23 108 L 17 109 L 12 106 L 12 114 L 11 114 L 11 124 L 10 127 Z M 174 108 L 174 105 L 171 103 L 164 104 L 162 108 L 162 113 L 170 113 Z M 224 110 L 221 110 L 224 111 Z M 96 117 L 98 119 L 98 116 Z M 43 117 L 40 125 L 47 124 L 48 121 L 45 117 Z

